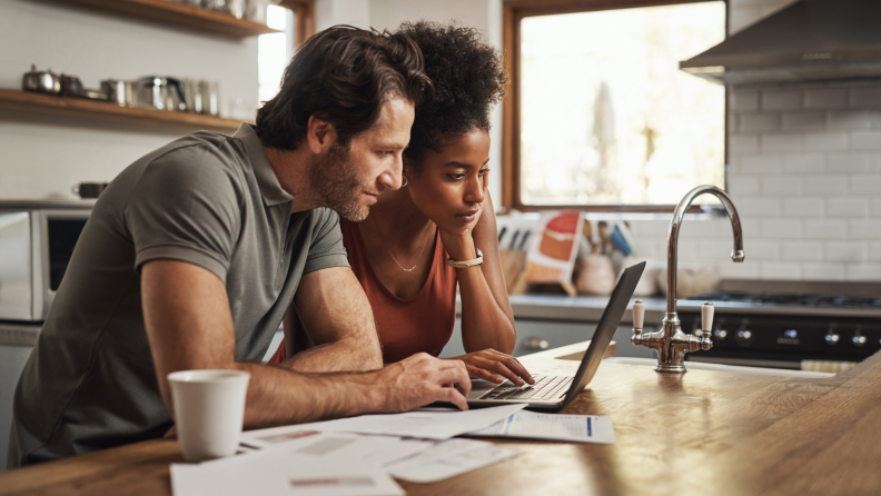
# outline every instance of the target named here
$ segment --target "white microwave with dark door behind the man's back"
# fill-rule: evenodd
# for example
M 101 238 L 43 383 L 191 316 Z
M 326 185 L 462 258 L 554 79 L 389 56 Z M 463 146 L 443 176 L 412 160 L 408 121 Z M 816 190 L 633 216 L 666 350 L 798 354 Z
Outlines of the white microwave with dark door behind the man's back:
M 0 201 L 0 320 L 46 319 L 93 206 Z

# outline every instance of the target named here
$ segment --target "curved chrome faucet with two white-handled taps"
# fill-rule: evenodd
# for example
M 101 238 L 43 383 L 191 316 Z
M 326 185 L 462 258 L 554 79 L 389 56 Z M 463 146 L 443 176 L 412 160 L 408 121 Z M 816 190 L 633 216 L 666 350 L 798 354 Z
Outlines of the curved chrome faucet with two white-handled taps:
M 717 197 L 725 207 L 731 227 L 734 231 L 734 250 L 731 259 L 735 262 L 743 261 L 743 235 L 741 232 L 740 217 L 731 198 L 715 186 L 699 186 L 680 201 L 673 211 L 673 219 L 670 221 L 667 231 L 667 302 L 664 320 L 661 323 L 663 328 L 654 333 L 643 333 L 645 318 L 645 305 L 642 300 L 636 300 L 633 305 L 633 336 L 631 341 L 636 346 L 645 346 L 657 353 L 656 371 L 684 373 L 683 359 L 689 351 L 699 349 L 710 349 L 713 341 L 710 339 L 713 327 L 713 304 L 706 301 L 701 308 L 701 329 L 695 329 L 694 335 L 682 331 L 680 319 L 676 315 L 676 262 L 679 251 L 679 231 L 682 227 L 682 218 L 691 206 L 692 201 L 701 195 L 710 194 Z

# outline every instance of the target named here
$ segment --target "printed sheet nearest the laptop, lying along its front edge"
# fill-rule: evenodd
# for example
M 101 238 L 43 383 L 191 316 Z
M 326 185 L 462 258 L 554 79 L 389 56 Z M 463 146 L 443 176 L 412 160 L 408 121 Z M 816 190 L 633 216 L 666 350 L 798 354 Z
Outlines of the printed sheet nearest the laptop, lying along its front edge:
M 538 414 L 525 410 L 517 411 L 504 420 L 468 435 L 565 440 L 571 443 L 615 443 L 612 417 Z

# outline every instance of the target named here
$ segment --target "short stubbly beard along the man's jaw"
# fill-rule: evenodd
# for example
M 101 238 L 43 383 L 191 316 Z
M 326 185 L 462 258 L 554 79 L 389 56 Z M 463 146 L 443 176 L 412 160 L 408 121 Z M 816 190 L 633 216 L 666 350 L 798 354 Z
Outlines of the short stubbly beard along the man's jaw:
M 326 157 L 317 157 L 309 170 L 314 195 L 321 206 L 353 222 L 360 222 L 370 212 L 360 204 L 364 189 L 357 168 L 349 161 L 348 147 L 334 143 Z

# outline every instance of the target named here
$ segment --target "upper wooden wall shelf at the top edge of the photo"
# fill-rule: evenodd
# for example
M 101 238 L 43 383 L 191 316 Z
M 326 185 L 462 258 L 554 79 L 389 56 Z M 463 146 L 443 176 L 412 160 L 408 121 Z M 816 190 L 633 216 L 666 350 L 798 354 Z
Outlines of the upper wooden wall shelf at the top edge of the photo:
M 281 32 L 259 22 L 168 0 L 55 0 L 232 38 Z

